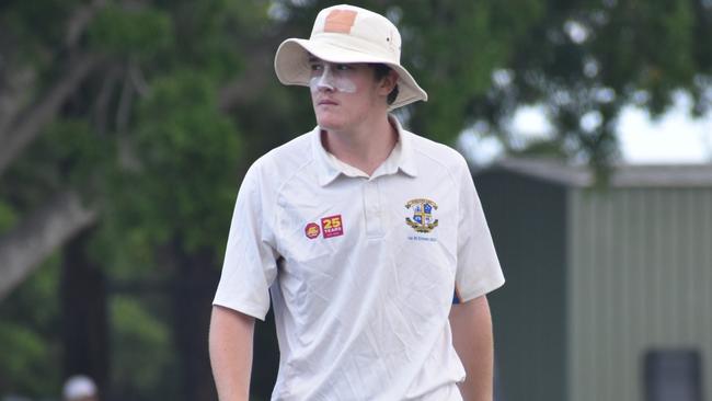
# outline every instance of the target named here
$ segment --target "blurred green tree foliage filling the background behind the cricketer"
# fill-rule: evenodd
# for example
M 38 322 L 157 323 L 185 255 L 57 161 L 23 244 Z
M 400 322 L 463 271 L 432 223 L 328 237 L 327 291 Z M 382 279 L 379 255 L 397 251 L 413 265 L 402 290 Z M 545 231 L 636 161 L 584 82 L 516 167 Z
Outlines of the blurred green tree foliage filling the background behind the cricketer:
M 659 115 L 679 90 L 692 96 L 693 114 L 712 106 L 708 0 L 354 3 L 400 26 L 402 61 L 430 100 L 399 113 L 412 130 L 444 142 L 455 144 L 476 127 L 514 153 L 606 165 L 617 158 L 615 127 L 623 106 Z M 307 37 L 315 13 L 328 5 L 0 3 L 0 261 L 20 260 L 13 241 L 42 237 L 33 218 L 62 213 L 48 204 L 56 194 L 71 193 L 82 199 L 70 206 L 84 211 L 77 214 L 83 218 L 66 219 L 51 241 L 36 242 L 51 249 L 32 252 L 59 253 L 57 244 L 95 226 L 88 252 L 114 288 L 170 287 L 186 264 L 217 274 L 243 172 L 314 124 L 308 91 L 282 87 L 272 62 L 278 44 Z M 522 145 L 510 135 L 508 121 L 521 105 L 546 110 L 554 126 L 546 141 Z M 0 272 L 9 266 L 0 263 Z M 61 353 L 53 351 L 58 340 L 47 340 L 46 332 L 59 311 L 49 308 L 55 314 L 43 316 L 23 299 L 37 294 L 31 283 L 56 280 L 57 274 L 24 268 L 18 283 L 30 277 L 27 285 L 8 298 L 0 294 L 0 343 L 14 344 L 0 350 L 9 362 L 0 364 L 0 393 L 47 394 L 57 390 L 59 377 L 33 389 L 23 377 L 60 369 Z M 119 333 L 113 344 L 161 350 L 156 366 L 165 366 L 173 360 L 165 351 L 174 341 L 166 334 L 173 330 L 171 308 L 135 295 L 135 288 L 127 291 L 111 303 Z M 56 296 L 42 294 L 42 302 Z M 38 355 L 48 358 L 44 367 L 36 365 Z M 150 398 L 157 387 L 179 393 L 165 389 L 175 386 L 175 373 L 128 368 L 140 357 L 114 360 L 115 383 L 133 383 L 131 397 Z

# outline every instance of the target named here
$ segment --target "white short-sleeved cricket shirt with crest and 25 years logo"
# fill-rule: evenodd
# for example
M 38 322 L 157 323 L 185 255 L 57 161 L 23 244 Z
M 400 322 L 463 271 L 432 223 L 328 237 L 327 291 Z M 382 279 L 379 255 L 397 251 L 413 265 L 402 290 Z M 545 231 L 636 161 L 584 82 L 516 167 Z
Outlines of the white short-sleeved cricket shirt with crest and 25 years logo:
M 272 294 L 273 400 L 461 400 L 451 305 L 504 277 L 464 159 L 391 122 L 370 177 L 317 127 L 242 182 L 214 303 L 264 319 Z

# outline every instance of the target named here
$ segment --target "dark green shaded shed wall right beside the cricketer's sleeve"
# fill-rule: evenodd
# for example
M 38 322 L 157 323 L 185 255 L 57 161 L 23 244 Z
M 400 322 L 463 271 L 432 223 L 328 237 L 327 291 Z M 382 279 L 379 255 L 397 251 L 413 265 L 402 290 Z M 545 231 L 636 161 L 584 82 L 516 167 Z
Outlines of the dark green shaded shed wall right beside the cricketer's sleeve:
M 565 190 L 505 172 L 474 181 L 507 280 L 489 297 L 497 401 L 564 401 Z

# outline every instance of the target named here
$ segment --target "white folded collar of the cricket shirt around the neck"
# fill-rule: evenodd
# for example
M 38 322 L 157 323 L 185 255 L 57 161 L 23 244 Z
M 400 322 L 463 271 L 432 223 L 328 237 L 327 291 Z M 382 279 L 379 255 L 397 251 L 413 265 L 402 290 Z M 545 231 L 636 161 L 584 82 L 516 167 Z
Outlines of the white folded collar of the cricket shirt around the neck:
M 376 169 L 371 177 L 379 175 L 395 174 L 400 171 L 410 175 L 416 176 L 417 169 L 415 167 L 415 158 L 413 151 L 413 134 L 406 131 L 401 126 L 401 123 L 393 115 L 388 116 L 389 122 L 395 127 L 398 131 L 398 142 L 388 156 L 388 158 Z M 326 186 L 340 174 L 347 176 L 366 176 L 360 170 L 351 167 L 329 153 L 321 142 L 321 128 L 317 126 L 311 133 L 311 148 L 317 168 L 319 171 L 319 185 Z

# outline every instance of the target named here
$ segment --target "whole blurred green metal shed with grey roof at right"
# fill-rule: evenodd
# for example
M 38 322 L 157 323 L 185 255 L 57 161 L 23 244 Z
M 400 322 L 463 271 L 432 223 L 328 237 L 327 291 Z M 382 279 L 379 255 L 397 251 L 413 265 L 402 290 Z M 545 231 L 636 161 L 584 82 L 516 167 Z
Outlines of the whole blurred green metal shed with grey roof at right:
M 509 159 L 474 180 L 507 277 L 491 296 L 499 400 L 709 393 L 712 165 L 621 165 L 599 188 L 583 167 Z M 670 351 L 684 366 L 659 382 Z

